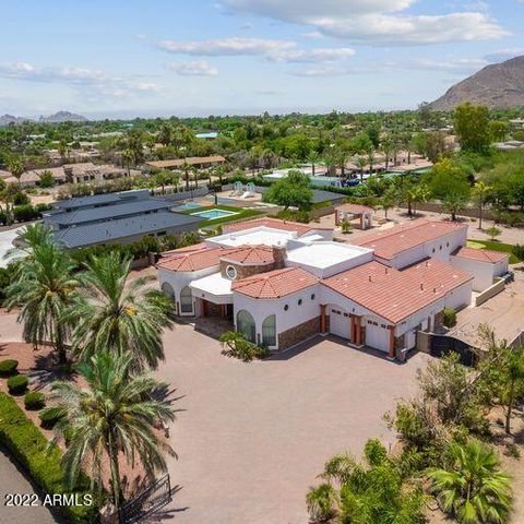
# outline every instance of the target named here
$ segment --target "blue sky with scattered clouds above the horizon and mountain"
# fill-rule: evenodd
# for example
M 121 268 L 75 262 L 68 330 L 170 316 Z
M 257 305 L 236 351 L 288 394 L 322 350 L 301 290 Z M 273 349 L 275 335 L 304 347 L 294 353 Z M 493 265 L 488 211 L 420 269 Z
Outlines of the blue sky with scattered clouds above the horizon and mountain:
M 16 0 L 0 114 L 415 108 L 524 55 L 524 0 Z

